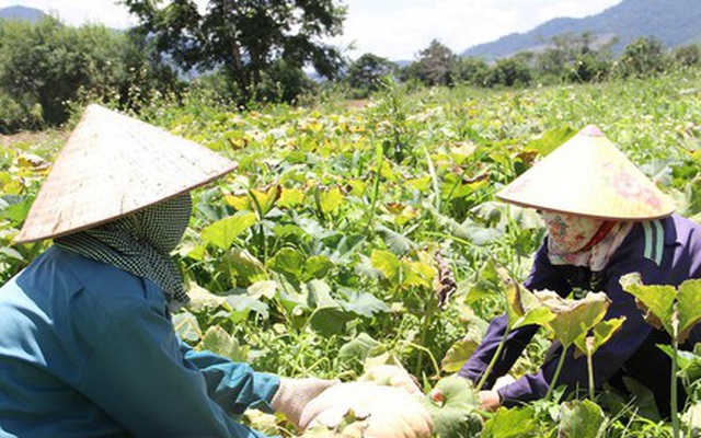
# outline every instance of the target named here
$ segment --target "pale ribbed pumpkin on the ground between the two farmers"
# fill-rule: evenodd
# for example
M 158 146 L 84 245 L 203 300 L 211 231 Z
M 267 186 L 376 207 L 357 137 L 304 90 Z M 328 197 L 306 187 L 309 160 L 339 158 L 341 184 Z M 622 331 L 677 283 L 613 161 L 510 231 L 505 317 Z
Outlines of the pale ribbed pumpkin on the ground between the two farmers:
M 347 415 L 366 438 L 428 438 L 433 422 L 421 402 L 405 390 L 370 382 L 342 383 L 307 404 L 301 426 L 336 428 Z

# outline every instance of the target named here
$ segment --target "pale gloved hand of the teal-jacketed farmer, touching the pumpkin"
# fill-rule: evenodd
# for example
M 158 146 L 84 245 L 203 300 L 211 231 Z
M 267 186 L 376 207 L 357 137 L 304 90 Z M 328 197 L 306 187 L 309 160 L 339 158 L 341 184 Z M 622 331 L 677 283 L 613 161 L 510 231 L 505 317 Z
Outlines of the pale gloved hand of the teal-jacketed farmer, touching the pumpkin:
M 281 378 L 271 404 L 275 412 L 285 414 L 290 423 L 299 427 L 302 410 L 307 403 L 337 383 L 340 383 L 338 380 Z

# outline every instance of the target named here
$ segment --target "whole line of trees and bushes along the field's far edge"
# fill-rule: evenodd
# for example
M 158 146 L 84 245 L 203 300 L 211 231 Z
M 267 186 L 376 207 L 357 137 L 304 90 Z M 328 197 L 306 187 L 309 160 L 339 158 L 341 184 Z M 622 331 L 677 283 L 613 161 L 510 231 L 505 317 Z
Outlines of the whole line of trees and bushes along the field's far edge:
M 656 74 L 701 58 L 698 46 L 668 51 L 651 37 L 614 57 L 614 42 L 584 33 L 494 61 L 457 56 L 433 41 L 400 67 L 374 54 L 348 60 L 324 43 L 341 34 L 346 14 L 333 0 L 209 0 L 204 11 L 193 0 L 122 3 L 138 18 L 124 32 L 50 16 L 0 21 L 1 132 L 60 125 L 71 105 L 88 101 L 138 112 L 157 96 L 206 90 L 246 107 L 326 90 L 364 99 L 388 77 L 412 87 L 528 87 Z

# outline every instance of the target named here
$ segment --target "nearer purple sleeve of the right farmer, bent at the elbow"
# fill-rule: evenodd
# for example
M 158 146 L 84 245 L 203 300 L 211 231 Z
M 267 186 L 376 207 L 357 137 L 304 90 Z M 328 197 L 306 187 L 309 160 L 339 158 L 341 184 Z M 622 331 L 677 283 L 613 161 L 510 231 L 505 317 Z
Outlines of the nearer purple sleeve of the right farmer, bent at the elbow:
M 635 306 L 632 295 L 625 292 L 619 284 L 622 275 L 639 272 L 644 284 L 663 284 L 662 273 L 657 266 L 647 260 L 628 261 L 616 264 L 607 269 L 607 278 L 601 289 L 607 292 L 611 306 L 606 319 L 625 316 L 625 323 L 620 332 L 606 343 L 594 356 L 595 387 L 600 387 L 610 379 L 628 359 L 643 345 L 652 327 L 645 323 L 641 311 Z M 556 384 L 566 384 L 568 391 L 586 389 L 588 385 L 586 357 L 574 357 L 574 347 L 570 347 L 565 362 Z M 554 343 L 547 355 L 545 361 L 535 374 L 524 376 L 512 384 L 498 390 L 505 406 L 513 406 L 519 402 L 540 399 L 545 395 L 558 367 L 562 346 Z

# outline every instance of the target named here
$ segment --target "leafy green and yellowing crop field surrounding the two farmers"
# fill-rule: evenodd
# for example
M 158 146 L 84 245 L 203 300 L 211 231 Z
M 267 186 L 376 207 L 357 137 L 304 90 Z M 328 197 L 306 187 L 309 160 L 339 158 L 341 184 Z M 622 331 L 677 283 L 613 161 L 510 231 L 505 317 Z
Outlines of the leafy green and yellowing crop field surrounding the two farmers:
M 189 95 L 154 99 L 140 117 L 239 163 L 193 193 L 175 253 L 192 303 L 174 323 L 197 348 L 290 377 L 355 380 L 374 364 L 400 364 L 426 393 L 460 389 L 427 397 L 441 437 L 671 436 L 637 382 L 634 397 L 605 390 L 575 401 L 554 390 L 486 414 L 467 382 L 447 378 L 513 304 L 504 278 L 526 278 L 544 235 L 535 211 L 494 194 L 584 126 L 597 125 L 678 212 L 701 219 L 701 71 L 516 91 L 388 83 L 363 102 L 246 112 Z M 46 247 L 12 238 L 65 138 L 3 139 L 2 283 Z M 542 330 L 513 377 L 536 371 L 553 336 Z M 688 436 L 701 434 L 698 353 L 680 353 Z M 246 420 L 292 430 L 274 416 Z

